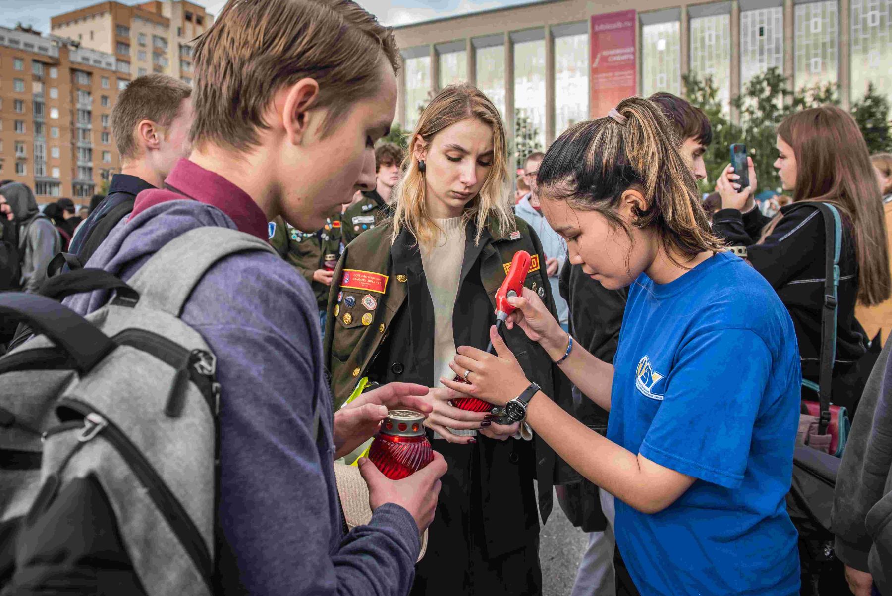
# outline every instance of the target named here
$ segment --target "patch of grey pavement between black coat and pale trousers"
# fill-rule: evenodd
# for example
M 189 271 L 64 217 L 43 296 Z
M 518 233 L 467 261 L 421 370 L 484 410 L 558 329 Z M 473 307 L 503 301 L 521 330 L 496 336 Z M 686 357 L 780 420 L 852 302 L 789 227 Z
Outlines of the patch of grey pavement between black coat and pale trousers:
M 567 596 L 573 589 L 576 569 L 588 544 L 588 534 L 571 526 L 558 505 L 549 516 L 549 523 L 539 535 L 539 559 L 542 566 L 544 596 Z

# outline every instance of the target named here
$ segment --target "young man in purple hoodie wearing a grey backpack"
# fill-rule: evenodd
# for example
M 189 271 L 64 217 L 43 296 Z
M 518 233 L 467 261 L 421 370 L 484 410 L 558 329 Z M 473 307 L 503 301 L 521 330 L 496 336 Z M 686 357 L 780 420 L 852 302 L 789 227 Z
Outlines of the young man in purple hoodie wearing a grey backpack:
M 409 592 L 442 457 L 401 481 L 363 460 L 349 533 L 333 462 L 427 390 L 333 417 L 315 298 L 265 242 L 374 186 L 397 55 L 352 2 L 230 2 L 195 46 L 190 159 L 50 281 L 64 304 L 0 295 L 38 332 L 0 359 L 4 596 Z

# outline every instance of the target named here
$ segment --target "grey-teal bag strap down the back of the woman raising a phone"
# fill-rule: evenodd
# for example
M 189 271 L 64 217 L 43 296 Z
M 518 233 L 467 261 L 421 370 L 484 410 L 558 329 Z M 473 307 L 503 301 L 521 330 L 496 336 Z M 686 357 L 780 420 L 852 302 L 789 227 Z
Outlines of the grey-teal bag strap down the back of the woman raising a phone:
M 830 203 L 812 203 L 824 220 L 824 303 L 821 311 L 821 372 L 818 377 L 818 401 L 821 420 L 818 434 L 824 435 L 830 424 L 830 399 L 833 363 L 836 360 L 839 255 L 842 252 L 842 219 Z

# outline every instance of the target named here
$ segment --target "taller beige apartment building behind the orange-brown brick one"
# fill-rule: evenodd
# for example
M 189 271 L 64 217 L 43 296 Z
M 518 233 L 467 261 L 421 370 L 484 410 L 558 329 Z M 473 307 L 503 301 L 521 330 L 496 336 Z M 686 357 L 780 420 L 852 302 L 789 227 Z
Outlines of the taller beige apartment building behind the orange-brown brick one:
M 53 34 L 81 47 L 114 54 L 122 75 L 161 72 L 192 83 L 191 42 L 213 17 L 186 0 L 153 0 L 130 6 L 103 2 L 54 16 Z

